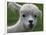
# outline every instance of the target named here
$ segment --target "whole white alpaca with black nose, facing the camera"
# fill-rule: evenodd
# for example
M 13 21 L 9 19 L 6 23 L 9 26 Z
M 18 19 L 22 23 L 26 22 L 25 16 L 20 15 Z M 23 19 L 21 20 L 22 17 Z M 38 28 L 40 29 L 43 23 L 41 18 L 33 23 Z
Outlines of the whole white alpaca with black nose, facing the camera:
M 41 12 L 36 5 L 9 3 L 9 6 L 19 10 L 20 18 L 15 25 L 8 27 L 8 33 L 32 31 L 35 28 L 37 17 L 41 15 Z

